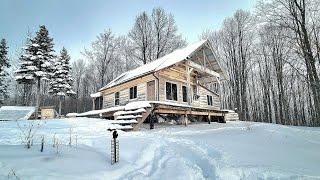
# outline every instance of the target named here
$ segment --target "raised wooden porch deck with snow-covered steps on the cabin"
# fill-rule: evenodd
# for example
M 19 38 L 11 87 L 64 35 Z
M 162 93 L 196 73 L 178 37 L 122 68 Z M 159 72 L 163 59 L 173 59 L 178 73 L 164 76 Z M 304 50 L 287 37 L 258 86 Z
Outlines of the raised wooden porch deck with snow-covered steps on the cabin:
M 159 118 L 172 120 L 173 117 L 182 119 L 183 124 L 187 125 L 190 121 L 220 122 L 225 123 L 225 114 L 228 111 L 215 110 L 209 108 L 199 108 L 177 103 L 163 101 L 141 101 L 150 106 L 135 106 L 127 110 L 114 110 L 101 113 L 100 117 L 114 119 L 117 123 L 131 125 L 133 130 L 139 130 L 143 123 L 150 123 L 150 128 L 159 122 Z M 135 102 L 139 104 L 139 102 Z M 175 120 L 177 120 L 175 119 Z

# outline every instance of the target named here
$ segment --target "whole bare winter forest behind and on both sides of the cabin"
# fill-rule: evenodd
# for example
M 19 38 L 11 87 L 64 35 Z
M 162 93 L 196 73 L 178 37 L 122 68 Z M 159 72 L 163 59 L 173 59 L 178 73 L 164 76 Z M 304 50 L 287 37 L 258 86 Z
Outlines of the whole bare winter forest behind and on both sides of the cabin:
M 219 29 L 204 30 L 199 39 L 209 40 L 225 71 L 222 108 L 235 110 L 241 120 L 320 126 L 319 17 L 316 0 L 261 1 L 252 12 L 237 10 Z M 106 29 L 79 50 L 83 59 L 72 60 L 75 93 L 65 96 L 61 113 L 91 110 L 91 93 L 121 73 L 186 44 L 174 16 L 162 8 L 138 14 L 126 35 Z M 24 51 L 18 50 L 11 67 L 6 66 L 9 70 L 19 68 Z M 10 96 L 0 94 L 4 104 L 35 105 L 38 86 L 19 84 L 13 80 L 14 73 L 8 75 Z M 40 105 L 58 107 L 61 98 L 49 94 L 52 84 L 41 81 L 39 86 Z

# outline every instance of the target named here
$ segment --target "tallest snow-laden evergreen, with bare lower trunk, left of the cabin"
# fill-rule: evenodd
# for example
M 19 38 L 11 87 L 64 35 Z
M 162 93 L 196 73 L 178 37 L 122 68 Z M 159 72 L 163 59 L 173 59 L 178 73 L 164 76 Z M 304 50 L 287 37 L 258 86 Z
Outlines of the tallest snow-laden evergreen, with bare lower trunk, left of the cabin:
M 49 37 L 44 25 L 40 26 L 34 38 L 30 38 L 25 47 L 25 54 L 20 57 L 21 66 L 16 71 L 16 80 L 19 83 L 36 83 L 36 107 L 40 105 L 41 80 L 49 80 L 54 59 L 53 39 Z M 36 111 L 38 117 L 38 111 Z

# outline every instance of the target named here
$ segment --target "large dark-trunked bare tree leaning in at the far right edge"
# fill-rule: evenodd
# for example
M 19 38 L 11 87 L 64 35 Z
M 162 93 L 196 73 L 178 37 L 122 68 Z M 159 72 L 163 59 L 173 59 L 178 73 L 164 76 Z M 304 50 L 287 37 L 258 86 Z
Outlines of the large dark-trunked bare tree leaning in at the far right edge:
M 316 25 L 317 16 L 314 16 L 318 15 L 314 13 L 319 11 L 318 4 L 312 0 L 273 0 L 259 5 L 267 21 L 291 32 L 286 37 L 294 42 L 296 53 L 305 64 L 305 79 L 310 85 L 315 109 L 315 125 L 320 125 L 320 80 L 316 65 L 319 29 L 315 28 L 319 25 Z

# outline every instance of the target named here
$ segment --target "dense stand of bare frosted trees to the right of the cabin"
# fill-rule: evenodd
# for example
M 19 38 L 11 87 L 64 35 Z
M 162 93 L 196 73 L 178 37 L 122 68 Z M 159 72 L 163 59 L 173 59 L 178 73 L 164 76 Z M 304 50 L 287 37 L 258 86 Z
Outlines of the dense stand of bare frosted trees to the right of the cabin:
M 241 120 L 320 126 L 319 5 L 260 1 L 202 34 L 226 72 L 224 108 Z

